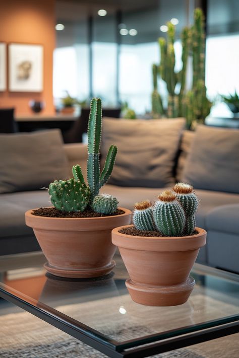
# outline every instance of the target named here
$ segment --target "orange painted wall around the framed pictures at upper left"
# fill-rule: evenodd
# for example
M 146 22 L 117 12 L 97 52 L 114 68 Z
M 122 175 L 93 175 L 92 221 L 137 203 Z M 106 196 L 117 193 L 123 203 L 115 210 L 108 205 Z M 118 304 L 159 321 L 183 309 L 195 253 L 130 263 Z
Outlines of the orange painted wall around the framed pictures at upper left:
M 55 0 L 0 0 L 0 42 L 43 45 L 43 92 L 0 92 L 0 107 L 17 114 L 32 113 L 29 101 L 45 102 L 44 114 L 54 114 L 52 65 L 55 47 Z

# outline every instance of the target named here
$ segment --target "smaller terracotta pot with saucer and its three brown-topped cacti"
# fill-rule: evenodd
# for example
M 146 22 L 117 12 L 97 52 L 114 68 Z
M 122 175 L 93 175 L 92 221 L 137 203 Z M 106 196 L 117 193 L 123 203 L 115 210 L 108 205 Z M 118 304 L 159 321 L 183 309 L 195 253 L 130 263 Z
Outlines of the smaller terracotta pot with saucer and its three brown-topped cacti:
M 206 243 L 206 231 L 195 227 L 197 207 L 193 187 L 178 183 L 161 193 L 153 206 L 148 200 L 136 203 L 134 225 L 112 230 L 135 302 L 174 306 L 188 300 L 195 285 L 189 274 Z

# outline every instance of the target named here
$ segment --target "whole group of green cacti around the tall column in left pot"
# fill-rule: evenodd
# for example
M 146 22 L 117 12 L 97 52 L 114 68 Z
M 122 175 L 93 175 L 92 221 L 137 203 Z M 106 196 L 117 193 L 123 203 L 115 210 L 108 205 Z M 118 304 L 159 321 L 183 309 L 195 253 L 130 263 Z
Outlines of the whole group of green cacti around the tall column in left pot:
M 118 201 L 107 194 L 98 195 L 99 189 L 108 181 L 115 162 L 117 147 L 111 146 L 100 172 L 99 149 L 102 128 L 102 107 L 100 98 L 93 98 L 88 122 L 87 181 L 85 183 L 79 165 L 72 168 L 73 178 L 55 180 L 49 185 L 50 200 L 62 211 L 84 211 L 88 206 L 96 212 L 110 214 L 116 211 Z

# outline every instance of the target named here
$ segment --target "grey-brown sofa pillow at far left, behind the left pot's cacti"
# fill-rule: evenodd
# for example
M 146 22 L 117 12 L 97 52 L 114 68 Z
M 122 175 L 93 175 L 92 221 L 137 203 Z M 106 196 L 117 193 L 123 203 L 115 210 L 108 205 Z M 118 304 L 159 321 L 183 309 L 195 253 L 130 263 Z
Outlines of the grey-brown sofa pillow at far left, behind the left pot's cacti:
M 60 130 L 0 134 L 0 193 L 38 190 L 67 175 Z

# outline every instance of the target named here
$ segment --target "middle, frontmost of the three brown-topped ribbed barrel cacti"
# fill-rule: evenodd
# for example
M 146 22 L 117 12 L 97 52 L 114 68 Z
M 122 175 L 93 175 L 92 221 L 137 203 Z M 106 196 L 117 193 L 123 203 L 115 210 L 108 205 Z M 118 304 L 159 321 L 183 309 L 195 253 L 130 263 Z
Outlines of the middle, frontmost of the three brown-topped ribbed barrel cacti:
M 158 196 L 153 208 L 155 225 L 165 236 L 178 236 L 183 233 L 186 217 L 176 194 L 165 190 Z

